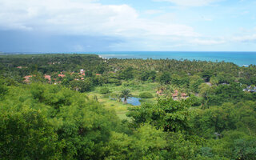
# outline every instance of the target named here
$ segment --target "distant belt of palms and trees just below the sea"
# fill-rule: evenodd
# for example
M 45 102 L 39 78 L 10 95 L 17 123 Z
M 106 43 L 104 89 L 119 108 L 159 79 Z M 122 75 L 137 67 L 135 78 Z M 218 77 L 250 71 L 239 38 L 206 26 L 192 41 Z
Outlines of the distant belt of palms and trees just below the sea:
M 35 72 L 51 75 L 60 72 L 78 73 L 83 69 L 87 77 L 104 74 L 103 77 L 110 79 L 110 82 L 135 78 L 142 81 L 168 83 L 175 78 L 172 83 L 188 86 L 188 78 L 198 75 L 205 82 L 212 84 L 240 82 L 250 86 L 256 83 L 256 66 L 239 67 L 231 62 L 103 59 L 96 54 L 31 54 L 2 55 L 0 64 L 1 75 L 19 79 L 20 82 L 22 82 L 21 78 Z M 21 67 L 18 68 L 18 66 Z M 108 81 L 104 79 L 104 82 Z

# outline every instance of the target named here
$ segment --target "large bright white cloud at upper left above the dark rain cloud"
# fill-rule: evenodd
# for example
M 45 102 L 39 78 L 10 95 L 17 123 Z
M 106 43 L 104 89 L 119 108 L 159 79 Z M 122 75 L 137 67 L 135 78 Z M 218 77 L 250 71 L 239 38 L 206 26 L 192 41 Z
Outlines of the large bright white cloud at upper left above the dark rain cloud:
M 198 35 L 190 26 L 139 18 L 128 5 L 102 5 L 90 0 L 1 0 L 0 6 L 0 29 L 125 38 Z

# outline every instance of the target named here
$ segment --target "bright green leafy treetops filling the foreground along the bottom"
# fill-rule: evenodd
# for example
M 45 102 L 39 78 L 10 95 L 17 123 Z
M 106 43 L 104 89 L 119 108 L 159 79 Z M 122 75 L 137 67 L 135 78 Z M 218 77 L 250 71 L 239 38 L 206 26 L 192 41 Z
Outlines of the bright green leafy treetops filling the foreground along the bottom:
M 189 100 L 162 99 L 130 109 L 133 121 L 120 122 L 113 111 L 62 86 L 4 87 L 2 159 L 256 158 L 255 102 L 190 112 Z

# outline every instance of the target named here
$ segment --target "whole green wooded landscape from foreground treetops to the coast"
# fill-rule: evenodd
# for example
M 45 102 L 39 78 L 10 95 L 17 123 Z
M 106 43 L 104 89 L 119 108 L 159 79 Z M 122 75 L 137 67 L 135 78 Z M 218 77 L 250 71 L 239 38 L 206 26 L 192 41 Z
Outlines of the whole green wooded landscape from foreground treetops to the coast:
M 0 55 L 0 159 L 254 160 L 255 85 L 231 62 Z

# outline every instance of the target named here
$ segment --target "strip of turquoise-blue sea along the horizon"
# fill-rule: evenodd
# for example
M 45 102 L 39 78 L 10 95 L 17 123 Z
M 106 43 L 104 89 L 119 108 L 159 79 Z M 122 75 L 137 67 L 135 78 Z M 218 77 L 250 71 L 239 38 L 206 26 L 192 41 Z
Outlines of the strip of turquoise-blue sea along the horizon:
M 256 65 L 256 52 L 174 52 L 174 51 L 115 51 L 94 52 L 102 58 L 188 59 L 212 62 L 234 62 L 238 66 Z

